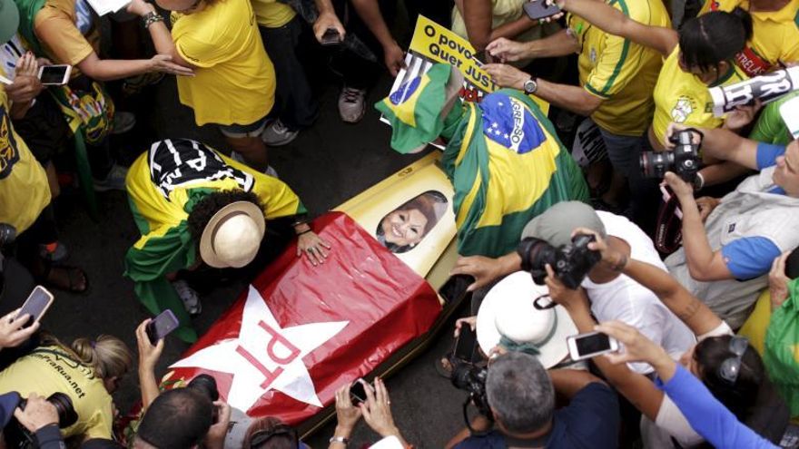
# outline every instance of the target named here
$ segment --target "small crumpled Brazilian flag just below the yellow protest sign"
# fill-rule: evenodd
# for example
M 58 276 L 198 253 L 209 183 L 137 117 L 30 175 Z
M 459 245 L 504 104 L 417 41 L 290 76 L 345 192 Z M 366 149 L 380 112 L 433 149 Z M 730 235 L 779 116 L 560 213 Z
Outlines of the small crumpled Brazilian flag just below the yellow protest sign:
M 463 75 L 437 63 L 427 73 L 402 83 L 375 108 L 391 123 L 391 148 L 401 153 L 421 150 L 444 128 L 444 112 L 458 96 Z

